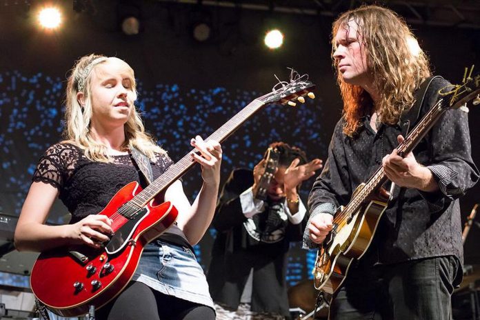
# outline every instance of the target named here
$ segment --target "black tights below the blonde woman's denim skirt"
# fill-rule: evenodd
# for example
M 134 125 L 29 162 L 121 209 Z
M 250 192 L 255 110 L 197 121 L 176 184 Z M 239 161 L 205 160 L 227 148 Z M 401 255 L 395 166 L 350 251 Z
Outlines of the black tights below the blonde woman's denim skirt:
M 214 320 L 208 306 L 179 299 L 132 281 L 121 294 L 95 312 L 95 320 Z

